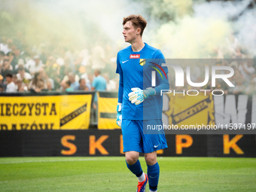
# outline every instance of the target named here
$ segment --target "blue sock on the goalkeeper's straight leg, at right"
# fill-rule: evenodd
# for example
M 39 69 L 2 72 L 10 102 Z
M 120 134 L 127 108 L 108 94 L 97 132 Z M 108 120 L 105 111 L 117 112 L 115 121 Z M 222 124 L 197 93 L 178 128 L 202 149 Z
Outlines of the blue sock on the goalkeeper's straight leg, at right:
M 158 163 L 153 166 L 148 166 L 148 184 L 150 190 L 157 190 L 157 184 L 160 174 L 160 168 Z

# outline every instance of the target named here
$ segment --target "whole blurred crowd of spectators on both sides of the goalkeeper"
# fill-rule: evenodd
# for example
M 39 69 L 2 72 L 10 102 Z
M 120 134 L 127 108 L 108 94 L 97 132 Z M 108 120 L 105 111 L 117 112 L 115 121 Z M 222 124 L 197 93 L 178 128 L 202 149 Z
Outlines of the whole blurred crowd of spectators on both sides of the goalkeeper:
M 29 47 L 22 38 L 2 37 L 0 41 L 0 92 L 66 91 L 77 90 L 118 90 L 118 75 L 115 75 L 115 58 L 107 58 L 103 47 L 96 45 L 79 51 L 59 46 Z M 212 87 L 209 83 L 203 89 L 224 90 L 225 94 L 256 93 L 256 62 L 246 47 L 239 44 L 230 34 L 224 44 L 209 56 L 217 66 L 230 66 L 234 69 L 229 78 L 235 87 L 217 80 Z M 193 69 L 193 70 L 192 70 Z M 191 66 L 191 81 L 203 82 L 204 67 Z M 184 66 L 184 72 L 186 66 Z M 228 71 L 222 71 L 228 72 Z M 169 72 L 170 89 L 198 90 L 202 87 L 175 87 L 175 75 Z

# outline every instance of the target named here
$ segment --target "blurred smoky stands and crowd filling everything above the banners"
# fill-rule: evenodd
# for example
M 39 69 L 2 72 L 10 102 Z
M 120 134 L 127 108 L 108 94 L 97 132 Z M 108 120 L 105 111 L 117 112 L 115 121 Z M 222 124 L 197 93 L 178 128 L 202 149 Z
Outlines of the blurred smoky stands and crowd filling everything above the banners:
M 117 91 L 116 55 L 128 46 L 122 18 L 139 13 L 148 20 L 143 40 L 166 58 L 219 59 L 216 65 L 233 67 L 234 88 L 209 81 L 208 89 L 254 93 L 255 0 L 111 0 L 108 8 L 98 6 L 101 0 L 14 2 L 2 0 L 0 8 L 2 92 Z M 203 82 L 203 68 L 192 69 L 191 81 Z M 170 89 L 179 89 L 172 72 L 169 78 Z

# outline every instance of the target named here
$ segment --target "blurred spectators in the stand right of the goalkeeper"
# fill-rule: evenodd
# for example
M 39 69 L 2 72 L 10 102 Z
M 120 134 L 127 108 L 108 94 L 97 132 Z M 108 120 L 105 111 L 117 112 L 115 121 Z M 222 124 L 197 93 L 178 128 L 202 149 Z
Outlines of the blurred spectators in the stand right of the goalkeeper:
M 195 63 L 198 62 L 198 63 Z M 200 63 L 200 64 L 199 64 Z M 190 65 L 191 64 L 191 65 Z M 171 79 L 170 90 L 222 90 L 216 94 L 255 94 L 256 93 L 256 57 L 246 47 L 239 44 L 237 38 L 230 34 L 222 47 L 218 47 L 209 59 L 190 59 L 182 65 L 184 72 L 190 66 L 190 80 L 194 83 L 202 83 L 205 80 L 205 66 L 209 66 L 209 81 L 204 87 L 191 87 L 184 80 L 184 87 L 175 87 L 175 75 L 169 74 Z M 222 79 L 216 79 L 215 87 L 212 87 L 211 66 L 230 66 L 234 75 L 228 80 L 234 85 L 230 87 Z M 216 74 L 229 74 L 228 70 L 217 70 Z M 186 75 L 184 75 L 185 77 Z M 204 94 L 204 92 L 202 92 Z M 207 93 L 210 93 L 209 91 Z M 193 94 L 193 93 L 191 93 Z

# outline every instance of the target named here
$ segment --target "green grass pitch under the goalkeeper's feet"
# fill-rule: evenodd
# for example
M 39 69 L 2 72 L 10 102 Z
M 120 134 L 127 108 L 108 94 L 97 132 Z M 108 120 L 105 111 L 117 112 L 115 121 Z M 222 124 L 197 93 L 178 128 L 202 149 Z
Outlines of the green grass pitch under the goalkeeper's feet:
M 142 169 L 146 172 L 143 157 Z M 158 191 L 256 191 L 256 159 L 158 157 Z M 136 191 L 124 157 L 0 158 L 0 191 Z M 148 185 L 147 189 L 148 191 Z

